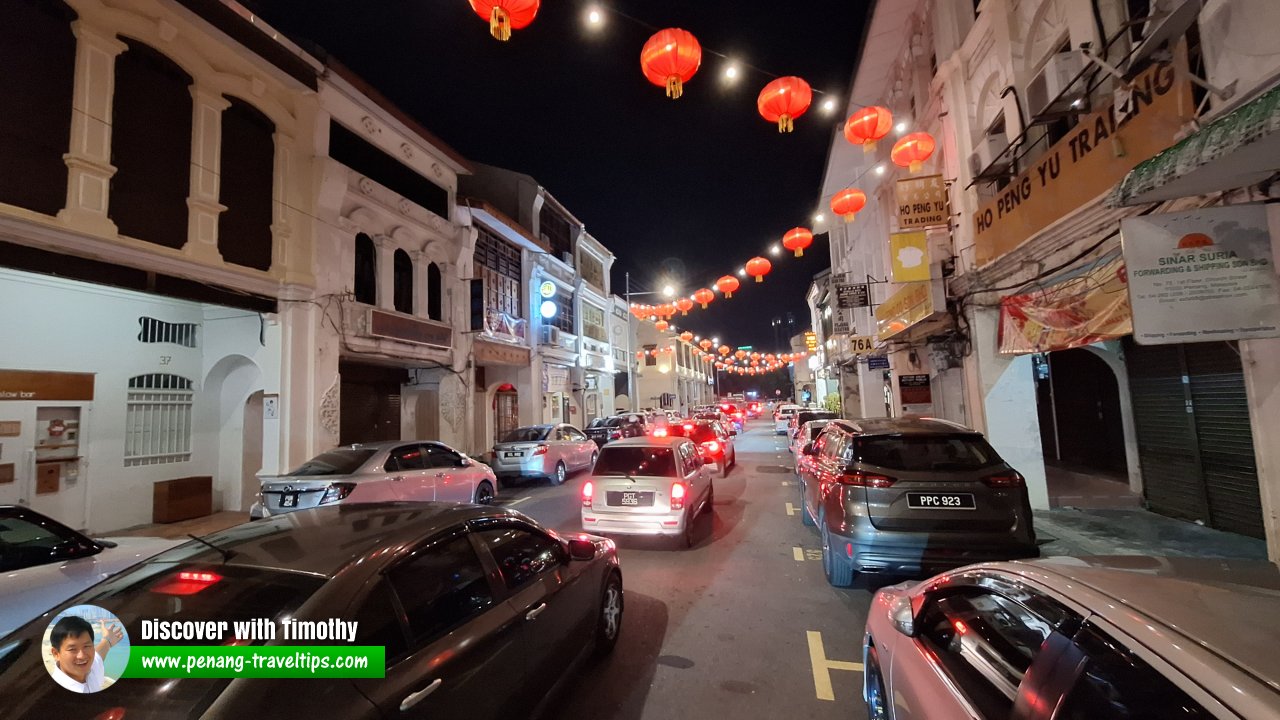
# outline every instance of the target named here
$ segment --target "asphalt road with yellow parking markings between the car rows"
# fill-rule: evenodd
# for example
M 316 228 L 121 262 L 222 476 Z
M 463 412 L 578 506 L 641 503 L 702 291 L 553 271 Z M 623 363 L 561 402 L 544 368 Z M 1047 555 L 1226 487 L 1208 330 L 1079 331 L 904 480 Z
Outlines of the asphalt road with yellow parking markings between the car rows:
M 750 423 L 736 441 L 737 466 L 716 478 L 716 511 L 701 516 L 692 548 L 618 539 L 618 644 L 579 671 L 550 720 L 867 717 L 860 661 L 873 591 L 827 584 L 772 421 Z M 499 503 L 580 532 L 585 479 L 504 488 Z

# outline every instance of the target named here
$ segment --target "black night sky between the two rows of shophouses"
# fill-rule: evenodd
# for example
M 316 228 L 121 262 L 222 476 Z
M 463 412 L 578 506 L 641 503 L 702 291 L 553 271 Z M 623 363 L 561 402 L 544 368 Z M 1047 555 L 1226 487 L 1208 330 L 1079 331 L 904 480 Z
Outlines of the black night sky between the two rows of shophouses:
M 800 76 L 844 108 L 867 12 L 865 0 L 612 0 L 634 20 L 608 12 L 589 31 L 591 3 L 547 0 L 534 24 L 498 42 L 466 0 L 244 4 L 324 47 L 467 158 L 536 178 L 617 255 L 618 295 L 626 270 L 632 290 L 675 275 L 690 293 L 810 224 L 842 118 L 819 113 L 815 95 L 796 131 L 780 135 L 755 110 L 772 78 L 744 68 L 726 86 L 724 61 L 708 50 Z M 662 27 L 704 47 L 675 101 L 640 72 L 640 47 Z M 815 242 L 803 259 L 769 259 L 764 283 L 746 278 L 732 300 L 677 323 L 777 350 L 769 320 L 791 311 L 804 329 L 804 291 L 829 255 Z

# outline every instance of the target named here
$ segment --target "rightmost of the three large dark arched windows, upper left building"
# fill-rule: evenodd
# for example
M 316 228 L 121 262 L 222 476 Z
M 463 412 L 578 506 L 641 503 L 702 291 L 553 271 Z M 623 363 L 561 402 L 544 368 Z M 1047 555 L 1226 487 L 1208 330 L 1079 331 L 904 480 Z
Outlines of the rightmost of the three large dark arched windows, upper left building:
M 223 181 L 218 201 L 218 251 L 223 260 L 271 268 L 271 201 L 275 181 L 275 123 L 248 102 L 228 97 L 223 110 Z

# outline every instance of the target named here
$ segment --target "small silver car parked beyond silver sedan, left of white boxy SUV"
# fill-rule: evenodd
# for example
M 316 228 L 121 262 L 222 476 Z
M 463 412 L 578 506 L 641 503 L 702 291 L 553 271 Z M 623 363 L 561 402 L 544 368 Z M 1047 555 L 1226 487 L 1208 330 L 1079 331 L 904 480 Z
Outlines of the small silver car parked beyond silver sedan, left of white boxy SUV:
M 493 446 L 493 471 L 502 482 L 545 478 L 562 484 L 570 473 L 595 464 L 599 447 L 573 425 L 516 428 Z

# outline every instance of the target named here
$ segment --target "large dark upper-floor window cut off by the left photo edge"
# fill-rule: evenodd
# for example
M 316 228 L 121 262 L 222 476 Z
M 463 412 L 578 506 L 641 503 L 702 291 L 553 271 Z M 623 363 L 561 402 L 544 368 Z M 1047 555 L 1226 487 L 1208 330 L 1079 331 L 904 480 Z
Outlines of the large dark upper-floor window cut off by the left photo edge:
M 9 0 L 0 23 L 0 202 L 55 215 L 67 201 L 76 83 L 76 13 L 63 3 Z

